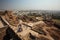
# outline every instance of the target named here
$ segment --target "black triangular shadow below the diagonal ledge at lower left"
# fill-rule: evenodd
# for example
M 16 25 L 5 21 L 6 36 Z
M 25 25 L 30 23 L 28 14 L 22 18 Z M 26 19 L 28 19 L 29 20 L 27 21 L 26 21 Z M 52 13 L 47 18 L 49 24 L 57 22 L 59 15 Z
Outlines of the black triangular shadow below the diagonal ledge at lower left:
M 6 35 L 4 36 L 3 40 L 21 40 L 17 34 L 15 34 L 15 32 L 10 28 L 8 27 L 7 30 L 6 30 Z

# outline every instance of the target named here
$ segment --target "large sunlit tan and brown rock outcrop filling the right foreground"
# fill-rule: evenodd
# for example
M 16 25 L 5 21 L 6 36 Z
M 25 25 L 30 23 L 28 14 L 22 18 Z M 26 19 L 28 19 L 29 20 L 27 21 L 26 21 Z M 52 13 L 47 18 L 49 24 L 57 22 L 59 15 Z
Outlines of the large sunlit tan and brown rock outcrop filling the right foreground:
M 54 25 L 50 26 L 44 21 L 32 24 L 34 24 L 32 28 L 28 27 L 27 24 L 22 26 L 24 30 L 18 33 L 22 40 L 60 40 L 60 29 Z

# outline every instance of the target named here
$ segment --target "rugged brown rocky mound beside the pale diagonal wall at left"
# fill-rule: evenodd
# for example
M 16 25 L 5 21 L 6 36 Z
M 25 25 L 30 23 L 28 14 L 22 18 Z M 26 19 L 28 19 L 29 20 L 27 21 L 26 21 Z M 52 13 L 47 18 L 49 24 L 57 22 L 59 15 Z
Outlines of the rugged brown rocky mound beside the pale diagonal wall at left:
M 13 15 L 12 11 L 5 11 L 5 13 L 5 19 L 9 22 L 9 24 L 17 26 L 19 23 L 17 16 Z

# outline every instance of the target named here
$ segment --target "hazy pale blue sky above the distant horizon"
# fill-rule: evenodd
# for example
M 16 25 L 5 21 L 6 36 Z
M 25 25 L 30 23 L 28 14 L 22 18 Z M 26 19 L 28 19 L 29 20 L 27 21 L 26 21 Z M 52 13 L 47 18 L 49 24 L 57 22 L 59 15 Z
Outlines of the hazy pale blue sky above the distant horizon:
M 60 0 L 0 0 L 0 9 L 60 10 Z

